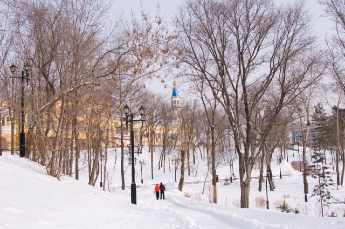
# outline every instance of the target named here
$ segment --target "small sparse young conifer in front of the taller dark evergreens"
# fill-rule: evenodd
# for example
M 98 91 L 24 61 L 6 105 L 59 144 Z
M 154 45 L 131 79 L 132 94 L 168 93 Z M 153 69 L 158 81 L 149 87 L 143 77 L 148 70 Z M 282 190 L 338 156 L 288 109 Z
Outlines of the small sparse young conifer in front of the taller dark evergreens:
M 331 205 L 332 196 L 327 187 L 334 185 L 330 172 L 327 171 L 328 167 L 324 166 L 323 161 L 323 153 L 319 147 L 315 146 L 312 156 L 313 165 L 310 168 L 312 169 L 311 176 L 317 179 L 317 184 L 314 186 L 312 196 L 319 196 L 317 202 L 321 204 L 322 217 L 324 217 L 323 206 Z

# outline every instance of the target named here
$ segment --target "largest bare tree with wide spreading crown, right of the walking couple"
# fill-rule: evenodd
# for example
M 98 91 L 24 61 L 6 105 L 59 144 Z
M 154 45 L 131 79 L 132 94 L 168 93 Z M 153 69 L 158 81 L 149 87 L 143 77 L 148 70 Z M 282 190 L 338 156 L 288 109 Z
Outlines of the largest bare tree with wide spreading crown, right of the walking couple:
M 195 0 L 179 8 L 175 24 L 181 68 L 204 78 L 227 114 L 239 154 L 241 207 L 248 208 L 255 149 L 316 60 L 313 53 L 306 55 L 315 42 L 310 18 L 298 1 L 280 9 L 269 0 Z M 275 96 L 269 87 L 275 87 Z M 264 98 L 272 103 L 272 114 L 251 147 L 254 108 Z

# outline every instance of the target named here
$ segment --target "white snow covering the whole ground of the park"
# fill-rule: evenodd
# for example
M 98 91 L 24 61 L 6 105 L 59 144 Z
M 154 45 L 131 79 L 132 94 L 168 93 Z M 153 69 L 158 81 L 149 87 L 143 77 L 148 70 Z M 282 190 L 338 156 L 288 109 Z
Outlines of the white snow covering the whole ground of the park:
M 117 149 L 118 150 L 118 149 Z M 275 190 L 269 191 L 270 209 L 256 208 L 254 199 L 263 197 L 266 200 L 266 187 L 259 192 L 258 169 L 253 169 L 250 186 L 249 209 L 234 206 L 233 202 L 240 199 L 239 181 L 234 180 L 229 186 L 223 185 L 224 178 L 230 177 L 230 167 L 220 158 L 217 166 L 219 182 L 217 183 L 217 205 L 211 204 L 208 197 L 211 195 L 210 175 L 207 179 L 205 193 L 201 195 L 203 181 L 207 173 L 206 162 L 198 159 L 198 168 L 192 166 L 192 174 L 187 171 L 183 193 L 178 191 L 175 180 L 174 166 L 171 171 L 168 165 L 158 170 L 159 149 L 154 152 L 154 179 L 151 179 L 150 153 L 146 150 L 138 157 L 138 161 L 145 160 L 143 167 L 144 184 L 140 183 L 140 166 L 136 166 L 137 205 L 130 203 L 130 189 L 121 190 L 120 164 L 115 164 L 114 149 L 108 149 L 107 171 L 111 187 L 106 185 L 105 191 L 99 187 L 88 185 L 88 173 L 80 174 L 80 180 L 62 176 L 60 180 L 48 176 L 46 169 L 30 160 L 19 158 L 3 152 L 0 156 L 0 229 L 2 228 L 48 228 L 48 229 L 81 229 L 81 228 L 345 228 L 345 218 L 342 211 L 345 206 L 332 204 L 332 210 L 338 217 L 316 217 L 316 197 L 308 195 L 308 202 L 304 202 L 303 181 L 299 171 L 293 170 L 292 157 L 289 151 L 289 162 L 283 160 L 281 170 L 283 179 L 279 179 L 279 165 L 272 161 L 272 171 L 276 176 Z M 119 155 L 119 153 L 118 153 Z M 128 156 L 127 156 L 128 157 Z M 120 158 L 117 158 L 119 162 Z M 331 161 L 331 158 L 327 158 Z M 234 172 L 238 177 L 238 159 L 235 157 Z M 332 168 L 331 168 L 332 169 Z M 177 177 L 179 170 L 177 171 Z M 194 176 L 193 176 L 194 174 Z M 111 179 L 110 179 L 111 178 Z M 131 170 L 125 173 L 126 186 L 131 183 Z M 178 181 L 178 180 L 177 180 Z M 199 181 L 192 183 L 192 181 Z M 163 182 L 166 186 L 166 199 L 156 200 L 154 185 Z M 316 183 L 308 177 L 309 191 Z M 344 199 L 344 187 L 330 187 L 332 195 Z M 185 196 L 190 196 L 187 198 Z M 283 201 L 293 208 L 310 208 L 309 214 L 302 212 L 283 213 L 276 209 L 275 202 Z M 329 209 L 329 212 L 330 210 Z M 328 212 L 328 214 L 329 214 Z

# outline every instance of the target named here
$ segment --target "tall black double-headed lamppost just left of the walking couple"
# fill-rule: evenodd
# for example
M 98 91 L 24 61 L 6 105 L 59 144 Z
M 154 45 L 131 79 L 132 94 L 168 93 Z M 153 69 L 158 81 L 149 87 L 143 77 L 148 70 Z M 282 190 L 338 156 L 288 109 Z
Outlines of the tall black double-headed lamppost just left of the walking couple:
M 133 119 L 133 113 L 130 111 L 130 108 L 127 106 L 127 104 L 124 107 L 124 113 L 126 115 L 126 126 L 128 128 L 128 123 L 130 123 L 130 142 L 131 142 L 131 156 L 134 158 L 134 131 L 133 131 L 133 122 L 135 121 L 141 121 L 141 126 L 143 125 L 143 122 L 145 121 L 143 116 L 145 114 L 145 109 L 141 106 L 139 108 L 139 114 L 141 116 L 141 119 L 134 120 Z M 137 204 L 137 188 L 135 184 L 135 167 L 134 167 L 134 160 L 132 162 L 132 183 L 131 183 L 131 203 Z

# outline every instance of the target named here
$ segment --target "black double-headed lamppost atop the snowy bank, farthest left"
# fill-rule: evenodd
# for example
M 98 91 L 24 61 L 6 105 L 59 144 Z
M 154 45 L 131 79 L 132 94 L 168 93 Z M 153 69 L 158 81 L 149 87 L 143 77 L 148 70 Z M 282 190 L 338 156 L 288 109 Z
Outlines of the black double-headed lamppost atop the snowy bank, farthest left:
M 24 79 L 26 79 L 27 84 L 29 84 L 30 65 L 28 63 L 24 64 L 21 77 L 14 76 L 14 72 L 17 69 L 17 67 L 14 64 L 12 64 L 10 66 L 10 69 L 12 72 L 12 83 L 14 83 L 13 78 L 21 78 L 22 79 L 22 84 L 21 84 L 21 123 L 20 123 L 20 135 L 19 135 L 19 157 L 25 157 Z M 24 75 L 24 71 L 25 71 L 25 75 Z

